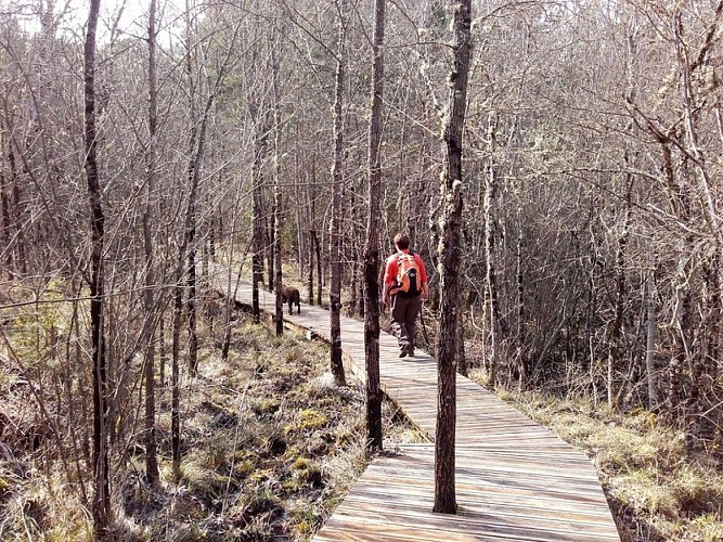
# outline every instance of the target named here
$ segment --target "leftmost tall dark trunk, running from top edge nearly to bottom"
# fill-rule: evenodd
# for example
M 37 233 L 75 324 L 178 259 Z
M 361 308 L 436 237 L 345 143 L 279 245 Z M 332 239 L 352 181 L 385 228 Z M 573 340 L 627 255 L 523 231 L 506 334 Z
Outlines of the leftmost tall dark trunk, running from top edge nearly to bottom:
M 91 352 L 93 361 L 93 526 L 95 537 L 107 533 L 111 514 L 111 488 L 108 473 L 108 442 L 106 416 L 107 366 L 105 336 L 103 333 L 104 312 L 104 268 L 103 245 L 105 241 L 105 216 L 101 204 L 102 192 L 96 156 L 95 131 L 95 30 L 100 11 L 100 0 L 90 1 L 88 30 L 85 46 L 85 124 L 86 124 L 86 177 L 91 214 L 90 256 L 90 326 Z

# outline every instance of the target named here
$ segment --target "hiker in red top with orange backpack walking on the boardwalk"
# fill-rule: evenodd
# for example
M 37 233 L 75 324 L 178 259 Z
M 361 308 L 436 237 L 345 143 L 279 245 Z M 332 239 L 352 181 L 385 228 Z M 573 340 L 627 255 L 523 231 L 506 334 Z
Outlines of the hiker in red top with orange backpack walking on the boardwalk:
M 391 307 L 391 331 L 399 341 L 399 357 L 414 356 L 414 325 L 422 301 L 429 298 L 427 269 L 410 250 L 405 233 L 395 236 L 397 253 L 387 258 L 384 271 L 384 305 Z

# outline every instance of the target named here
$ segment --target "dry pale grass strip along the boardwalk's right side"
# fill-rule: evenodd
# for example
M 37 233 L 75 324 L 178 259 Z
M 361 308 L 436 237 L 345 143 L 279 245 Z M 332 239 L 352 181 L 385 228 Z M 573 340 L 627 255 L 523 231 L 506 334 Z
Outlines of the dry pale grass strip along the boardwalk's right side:
M 483 373 L 472 378 L 486 382 Z M 498 395 L 591 457 L 622 542 L 723 541 L 723 454 L 649 411 L 621 413 L 591 399 L 498 390 Z

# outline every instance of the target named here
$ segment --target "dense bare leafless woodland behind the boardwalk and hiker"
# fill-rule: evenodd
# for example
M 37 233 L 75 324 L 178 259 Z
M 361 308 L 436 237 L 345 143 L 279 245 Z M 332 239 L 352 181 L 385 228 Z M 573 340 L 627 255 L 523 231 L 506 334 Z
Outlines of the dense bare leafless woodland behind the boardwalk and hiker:
M 2 385 L 33 390 L 37 434 L 85 435 L 67 446 L 86 461 L 93 408 L 112 421 L 113 457 L 138 437 L 120 421 L 153 414 L 154 382 L 198 370 L 208 262 L 244 274 L 254 253 L 271 288 L 277 242 L 302 298 L 327 302 L 334 263 L 343 310 L 363 312 L 373 2 L 150 5 L 129 25 L 101 5 L 94 173 L 85 8 L 0 7 Z M 720 457 L 723 2 L 475 1 L 473 13 L 461 370 L 650 411 Z M 378 243 L 411 234 L 432 320 L 451 22 L 449 2 L 388 2 Z M 231 309 L 216 310 L 230 328 Z M 107 385 L 95 406 L 93 328 Z M 5 454 L 57 461 L 57 442 L 21 438 L 13 413 L 0 421 Z

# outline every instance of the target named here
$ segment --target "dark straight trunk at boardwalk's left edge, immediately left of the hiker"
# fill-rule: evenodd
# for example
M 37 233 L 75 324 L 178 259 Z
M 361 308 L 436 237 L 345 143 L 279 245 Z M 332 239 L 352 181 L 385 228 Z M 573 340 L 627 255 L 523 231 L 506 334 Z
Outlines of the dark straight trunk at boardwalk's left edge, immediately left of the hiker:
M 379 209 L 382 201 L 382 99 L 384 96 L 384 18 L 386 0 L 375 1 L 372 47 L 372 117 L 369 128 L 369 215 L 364 247 L 364 353 L 366 357 L 366 440 L 382 450 L 382 391 L 379 389 Z

